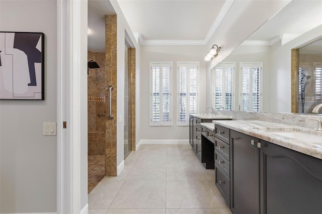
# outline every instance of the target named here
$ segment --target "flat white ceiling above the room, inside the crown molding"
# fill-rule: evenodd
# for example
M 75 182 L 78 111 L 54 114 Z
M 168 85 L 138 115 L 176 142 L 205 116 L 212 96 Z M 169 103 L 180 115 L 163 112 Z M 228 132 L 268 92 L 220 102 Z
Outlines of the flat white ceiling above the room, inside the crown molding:
M 119 0 L 132 32 L 143 40 L 204 40 L 225 0 Z

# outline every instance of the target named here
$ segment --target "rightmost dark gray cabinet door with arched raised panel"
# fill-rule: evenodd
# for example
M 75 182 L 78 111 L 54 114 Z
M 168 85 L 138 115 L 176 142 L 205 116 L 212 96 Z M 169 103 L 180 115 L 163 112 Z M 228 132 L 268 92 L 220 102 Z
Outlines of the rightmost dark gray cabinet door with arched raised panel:
M 322 160 L 262 140 L 260 157 L 261 213 L 322 213 Z

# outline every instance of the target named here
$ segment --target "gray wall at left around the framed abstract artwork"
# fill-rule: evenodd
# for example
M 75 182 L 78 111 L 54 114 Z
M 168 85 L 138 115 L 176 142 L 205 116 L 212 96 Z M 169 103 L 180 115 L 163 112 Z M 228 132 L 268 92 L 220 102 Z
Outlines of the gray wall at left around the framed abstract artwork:
M 0 101 L 1 213 L 56 212 L 56 136 L 42 134 L 56 122 L 56 8 L 0 1 L 0 31 L 45 34 L 45 100 Z

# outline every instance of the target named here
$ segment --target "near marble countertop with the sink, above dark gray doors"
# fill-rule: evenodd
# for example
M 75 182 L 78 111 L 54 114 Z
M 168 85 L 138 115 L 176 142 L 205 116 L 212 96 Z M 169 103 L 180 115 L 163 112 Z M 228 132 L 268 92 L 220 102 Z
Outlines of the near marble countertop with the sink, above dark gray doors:
M 231 130 L 322 159 L 322 132 L 264 121 L 213 121 Z

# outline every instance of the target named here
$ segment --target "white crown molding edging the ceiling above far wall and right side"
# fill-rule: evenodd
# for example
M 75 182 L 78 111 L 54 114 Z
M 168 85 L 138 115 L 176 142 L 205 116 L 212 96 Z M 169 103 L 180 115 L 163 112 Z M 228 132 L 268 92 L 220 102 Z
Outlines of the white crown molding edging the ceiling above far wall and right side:
M 221 10 L 218 13 L 214 23 L 210 27 L 204 40 L 144 40 L 142 35 L 139 33 L 133 33 L 136 41 L 140 41 L 141 45 L 206 45 L 211 36 L 215 33 L 219 24 L 227 14 L 229 8 L 235 0 L 226 0 Z

